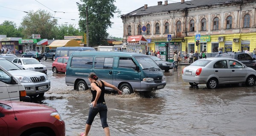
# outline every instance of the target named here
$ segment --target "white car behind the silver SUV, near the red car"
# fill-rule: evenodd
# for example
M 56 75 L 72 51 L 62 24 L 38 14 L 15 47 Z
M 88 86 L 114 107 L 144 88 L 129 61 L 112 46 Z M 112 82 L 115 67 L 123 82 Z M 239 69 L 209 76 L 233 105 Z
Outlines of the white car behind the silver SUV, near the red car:
M 47 74 L 47 67 L 34 58 L 16 58 L 12 62 L 19 68 L 28 71 L 38 71 Z

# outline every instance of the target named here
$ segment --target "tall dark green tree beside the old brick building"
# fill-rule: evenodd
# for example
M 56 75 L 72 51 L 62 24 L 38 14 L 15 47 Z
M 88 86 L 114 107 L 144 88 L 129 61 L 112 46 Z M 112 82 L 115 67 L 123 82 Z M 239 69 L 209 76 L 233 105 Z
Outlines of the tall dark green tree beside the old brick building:
M 107 29 L 112 26 L 111 18 L 117 8 L 114 5 L 115 0 L 81 0 L 84 4 L 79 4 L 80 20 L 79 26 L 86 32 L 86 7 L 88 8 L 88 31 L 89 45 L 108 44 Z

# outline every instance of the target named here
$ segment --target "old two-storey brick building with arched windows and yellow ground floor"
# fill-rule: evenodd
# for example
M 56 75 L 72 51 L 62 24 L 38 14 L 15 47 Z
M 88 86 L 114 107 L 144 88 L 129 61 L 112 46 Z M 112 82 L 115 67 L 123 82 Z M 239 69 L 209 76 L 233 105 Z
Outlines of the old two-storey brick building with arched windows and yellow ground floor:
M 207 57 L 213 57 L 219 49 L 252 52 L 256 48 L 256 0 L 166 0 L 156 6 L 145 4 L 121 18 L 123 41 L 131 35 L 143 35 L 151 41 L 148 50 L 159 50 L 159 42 L 180 42 L 176 50 L 181 53 L 206 51 Z M 141 29 L 143 26 L 146 30 Z M 168 35 L 172 36 L 171 41 L 167 41 Z M 196 46 L 198 35 L 200 44 Z M 172 51 L 169 45 L 166 55 Z

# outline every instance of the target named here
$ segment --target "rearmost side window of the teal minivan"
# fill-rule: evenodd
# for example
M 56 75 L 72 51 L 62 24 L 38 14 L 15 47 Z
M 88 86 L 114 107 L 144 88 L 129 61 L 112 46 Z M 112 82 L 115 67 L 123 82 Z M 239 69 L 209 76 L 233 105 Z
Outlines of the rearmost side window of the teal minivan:
M 73 57 L 72 68 L 93 68 L 93 57 Z

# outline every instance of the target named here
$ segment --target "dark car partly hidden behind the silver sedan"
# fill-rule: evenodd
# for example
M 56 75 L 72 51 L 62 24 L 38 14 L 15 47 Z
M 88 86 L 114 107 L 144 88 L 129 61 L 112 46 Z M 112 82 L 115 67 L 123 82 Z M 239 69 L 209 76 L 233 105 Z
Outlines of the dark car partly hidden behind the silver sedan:
M 225 58 L 232 58 L 237 59 L 240 62 L 242 62 L 247 67 L 253 68 L 256 70 L 256 60 L 255 58 L 251 57 L 249 54 L 245 52 L 239 52 L 239 53 L 223 53 L 223 54 L 217 54 L 215 57 L 225 57 Z

